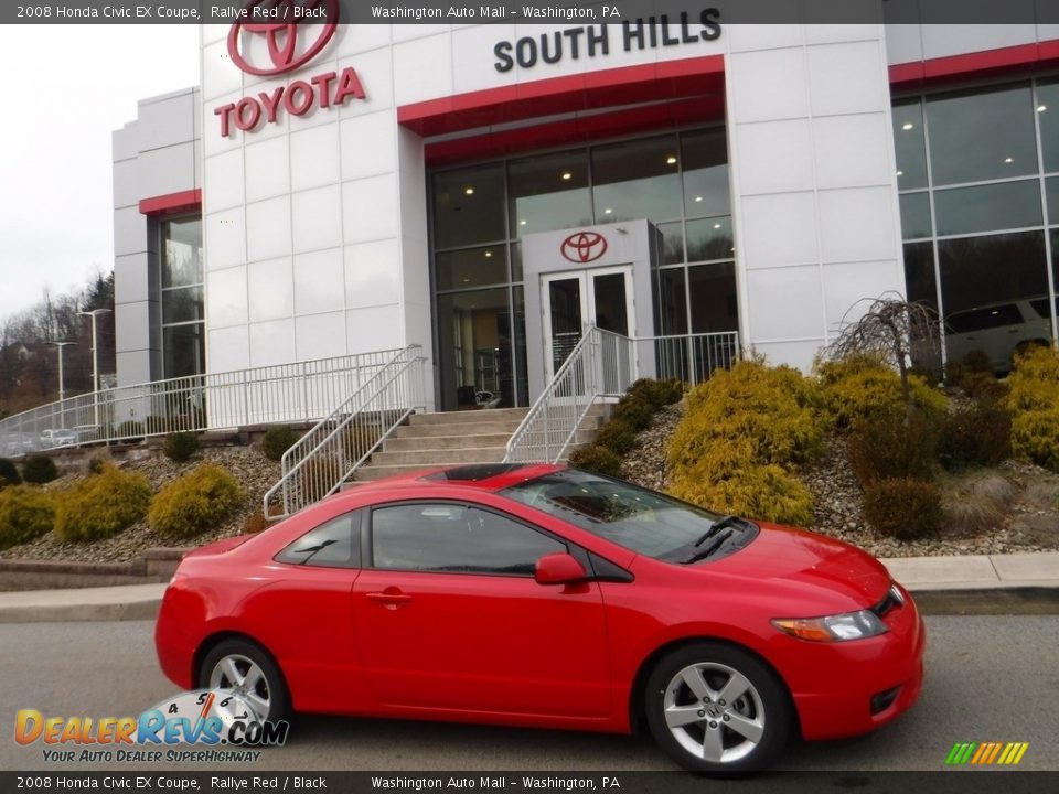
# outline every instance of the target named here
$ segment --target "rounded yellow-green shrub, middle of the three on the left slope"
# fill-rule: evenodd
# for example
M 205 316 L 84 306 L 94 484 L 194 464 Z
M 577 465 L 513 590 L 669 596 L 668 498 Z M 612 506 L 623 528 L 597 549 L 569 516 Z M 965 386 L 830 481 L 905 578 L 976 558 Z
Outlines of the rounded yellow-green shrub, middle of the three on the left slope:
M 142 474 L 105 464 L 56 498 L 55 534 L 63 540 L 98 540 L 117 535 L 145 515 L 151 486 Z

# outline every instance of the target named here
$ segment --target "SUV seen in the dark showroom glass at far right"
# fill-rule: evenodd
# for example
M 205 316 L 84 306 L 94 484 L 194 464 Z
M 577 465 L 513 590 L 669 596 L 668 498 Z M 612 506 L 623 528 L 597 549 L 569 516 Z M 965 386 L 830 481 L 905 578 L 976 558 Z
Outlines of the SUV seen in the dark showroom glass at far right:
M 982 351 L 993 372 L 1008 373 L 1015 354 L 1029 345 L 1051 344 L 1048 298 L 990 303 L 945 316 L 949 361 Z

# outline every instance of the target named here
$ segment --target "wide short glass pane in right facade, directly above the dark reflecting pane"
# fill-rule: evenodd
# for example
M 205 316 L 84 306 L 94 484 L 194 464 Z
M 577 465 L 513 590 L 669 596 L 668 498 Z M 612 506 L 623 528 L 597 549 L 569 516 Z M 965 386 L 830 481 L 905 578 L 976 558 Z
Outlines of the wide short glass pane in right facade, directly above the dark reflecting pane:
M 939 235 L 1040 226 L 1037 180 L 934 191 Z

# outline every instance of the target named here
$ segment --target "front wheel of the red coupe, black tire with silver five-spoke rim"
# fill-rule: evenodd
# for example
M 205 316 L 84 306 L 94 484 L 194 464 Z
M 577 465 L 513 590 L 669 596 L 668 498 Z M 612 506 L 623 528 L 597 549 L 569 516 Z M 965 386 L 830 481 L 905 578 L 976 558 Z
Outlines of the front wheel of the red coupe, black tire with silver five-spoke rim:
M 734 699 L 720 697 L 726 689 Z M 766 768 L 787 744 L 793 716 L 783 684 L 767 665 L 746 651 L 705 641 L 655 665 L 644 705 L 655 741 L 694 772 Z

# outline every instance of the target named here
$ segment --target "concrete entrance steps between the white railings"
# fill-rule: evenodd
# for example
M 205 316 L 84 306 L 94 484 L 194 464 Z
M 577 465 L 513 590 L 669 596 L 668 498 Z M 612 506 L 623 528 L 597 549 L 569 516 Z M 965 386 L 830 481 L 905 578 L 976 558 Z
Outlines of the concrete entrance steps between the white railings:
M 577 432 L 576 444 L 595 438 L 605 409 L 602 405 L 591 408 Z M 499 463 L 527 410 L 494 408 L 415 414 L 383 442 L 383 451 L 373 454 L 368 465 L 361 468 L 354 479 L 364 482 L 431 466 Z

